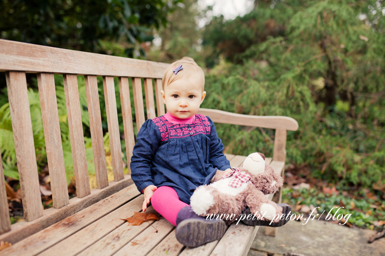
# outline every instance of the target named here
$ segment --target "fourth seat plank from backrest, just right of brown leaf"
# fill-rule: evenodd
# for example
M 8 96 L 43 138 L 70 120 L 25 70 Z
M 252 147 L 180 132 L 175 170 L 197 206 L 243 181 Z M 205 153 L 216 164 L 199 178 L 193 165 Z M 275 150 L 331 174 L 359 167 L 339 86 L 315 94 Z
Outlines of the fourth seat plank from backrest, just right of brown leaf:
M 128 244 L 123 246 L 115 256 L 124 256 L 127 255 L 127 252 L 130 252 L 130 256 L 143 256 L 147 255 L 152 248 L 158 245 L 168 233 L 174 228 L 174 225 L 169 223 L 166 219 L 162 218 L 159 221 L 156 221 L 152 224 L 153 227 L 158 229 L 156 232 L 155 228 L 148 227 L 142 233 L 139 234 L 136 238 L 130 241 Z

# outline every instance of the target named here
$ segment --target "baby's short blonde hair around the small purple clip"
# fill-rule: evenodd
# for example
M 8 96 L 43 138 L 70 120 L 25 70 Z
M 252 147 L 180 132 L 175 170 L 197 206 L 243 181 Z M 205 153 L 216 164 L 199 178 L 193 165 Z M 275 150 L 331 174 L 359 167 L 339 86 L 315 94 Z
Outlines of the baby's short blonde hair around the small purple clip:
M 163 90 L 166 86 L 168 86 L 168 84 L 176 80 L 179 80 L 182 78 L 189 79 L 191 77 L 194 77 L 195 79 L 198 78 L 199 83 L 204 89 L 203 70 L 201 67 L 198 66 L 198 64 L 195 61 L 190 59 L 183 57 L 182 59 L 172 62 L 170 66 L 168 66 L 168 68 L 164 71 L 164 74 L 163 74 L 163 79 L 162 79 Z M 183 69 L 180 70 L 177 74 L 174 74 L 172 70 L 174 70 L 176 67 L 179 67 L 179 65 L 182 65 Z

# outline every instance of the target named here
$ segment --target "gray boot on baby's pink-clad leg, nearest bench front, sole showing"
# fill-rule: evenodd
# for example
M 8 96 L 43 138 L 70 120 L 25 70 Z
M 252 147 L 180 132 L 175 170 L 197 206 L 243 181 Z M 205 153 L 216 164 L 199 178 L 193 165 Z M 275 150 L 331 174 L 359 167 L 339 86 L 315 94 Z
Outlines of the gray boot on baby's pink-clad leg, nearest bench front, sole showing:
M 175 235 L 187 247 L 198 247 L 221 239 L 225 231 L 223 220 L 206 220 L 196 215 L 191 206 L 185 206 L 178 212 Z

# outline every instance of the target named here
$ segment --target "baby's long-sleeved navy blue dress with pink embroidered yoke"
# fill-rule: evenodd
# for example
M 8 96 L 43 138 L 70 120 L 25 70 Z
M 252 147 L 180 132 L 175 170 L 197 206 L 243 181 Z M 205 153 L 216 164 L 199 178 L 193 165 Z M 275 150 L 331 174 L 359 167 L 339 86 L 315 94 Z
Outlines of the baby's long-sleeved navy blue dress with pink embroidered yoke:
M 174 124 L 164 116 L 142 125 L 131 157 L 131 178 L 142 193 L 148 185 L 174 188 L 189 204 L 194 190 L 208 184 L 230 163 L 213 121 L 196 114 L 192 124 Z

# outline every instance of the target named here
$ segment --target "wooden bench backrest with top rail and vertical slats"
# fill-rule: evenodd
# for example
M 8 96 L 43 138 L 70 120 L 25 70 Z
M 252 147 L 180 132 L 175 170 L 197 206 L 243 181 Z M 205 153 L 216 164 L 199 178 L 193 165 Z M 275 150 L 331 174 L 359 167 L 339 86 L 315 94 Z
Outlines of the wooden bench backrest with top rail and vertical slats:
M 77 76 L 84 75 L 85 78 L 95 176 L 97 187 L 102 189 L 107 187 L 109 182 L 97 76 L 103 77 L 113 177 L 114 181 L 117 182 L 124 179 L 118 111 L 122 111 L 123 115 L 128 166 L 134 146 L 129 79 L 132 79 L 136 125 L 137 130 L 139 130 L 146 118 L 155 118 L 156 115 L 165 113 L 164 104 L 159 95 L 160 90 L 162 90 L 161 78 L 167 67 L 167 63 L 71 51 L 0 39 L 0 71 L 6 72 L 17 168 L 20 175 L 24 216 L 27 221 L 42 217 L 43 207 L 37 174 L 26 73 L 37 74 L 53 208 L 59 209 L 69 204 L 69 198 L 53 74 L 63 74 L 76 194 L 78 198 L 84 198 L 90 195 L 91 191 Z M 119 77 L 121 110 L 117 109 L 113 77 Z M 144 79 L 144 84 L 142 84 L 142 79 Z M 142 86 L 144 86 L 145 91 L 147 117 L 145 117 L 144 111 Z M 153 87 L 155 87 L 156 99 L 154 99 Z M 2 166 L 0 166 L 0 177 L 4 180 Z M 0 206 L 2 209 L 0 211 L 1 234 L 10 229 L 4 182 L 0 182 Z

